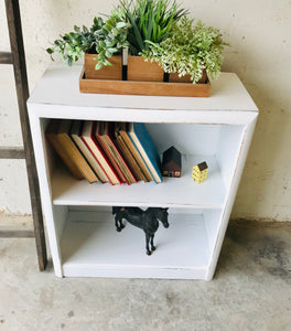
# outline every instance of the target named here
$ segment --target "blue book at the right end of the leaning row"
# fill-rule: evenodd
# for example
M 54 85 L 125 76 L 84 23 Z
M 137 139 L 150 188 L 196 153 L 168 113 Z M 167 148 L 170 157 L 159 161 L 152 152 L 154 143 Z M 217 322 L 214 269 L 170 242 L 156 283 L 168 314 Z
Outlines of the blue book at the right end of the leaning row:
M 161 173 L 161 159 L 144 124 L 130 122 L 128 134 L 144 160 L 152 178 L 157 183 L 161 183 L 163 181 Z

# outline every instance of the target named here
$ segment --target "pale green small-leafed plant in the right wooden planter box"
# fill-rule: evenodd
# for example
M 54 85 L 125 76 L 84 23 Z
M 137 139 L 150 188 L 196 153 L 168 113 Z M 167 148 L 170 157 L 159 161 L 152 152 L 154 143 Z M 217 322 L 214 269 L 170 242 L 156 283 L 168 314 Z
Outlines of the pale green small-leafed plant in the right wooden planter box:
M 223 64 L 223 50 L 228 45 L 219 30 L 183 17 L 172 25 L 170 34 L 161 43 L 148 41 L 149 50 L 142 56 L 158 62 L 165 73 L 177 73 L 180 77 L 191 75 L 193 83 L 202 78 L 205 68 L 216 78 Z

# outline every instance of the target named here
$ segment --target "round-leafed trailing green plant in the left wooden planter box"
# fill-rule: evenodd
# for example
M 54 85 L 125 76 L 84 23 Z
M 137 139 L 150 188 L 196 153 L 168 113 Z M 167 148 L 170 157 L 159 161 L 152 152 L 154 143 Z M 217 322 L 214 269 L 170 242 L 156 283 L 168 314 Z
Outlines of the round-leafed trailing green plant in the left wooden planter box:
M 98 54 L 98 58 L 95 58 L 96 70 L 100 70 L 103 65 L 111 65 L 108 58 L 129 45 L 127 36 L 131 25 L 123 21 L 123 15 L 122 10 L 112 10 L 106 21 L 95 18 L 90 29 L 75 25 L 74 32 L 61 35 L 46 52 L 51 56 L 58 53 L 68 65 L 82 57 L 83 53 Z

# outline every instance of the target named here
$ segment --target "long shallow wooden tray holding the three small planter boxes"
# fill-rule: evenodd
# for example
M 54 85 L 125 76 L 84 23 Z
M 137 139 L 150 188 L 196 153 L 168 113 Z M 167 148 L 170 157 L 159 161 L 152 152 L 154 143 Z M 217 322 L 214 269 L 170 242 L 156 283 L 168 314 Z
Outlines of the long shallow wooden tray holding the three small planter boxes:
M 86 79 L 83 72 L 79 78 L 79 92 L 120 95 L 208 97 L 211 83 L 192 84 Z

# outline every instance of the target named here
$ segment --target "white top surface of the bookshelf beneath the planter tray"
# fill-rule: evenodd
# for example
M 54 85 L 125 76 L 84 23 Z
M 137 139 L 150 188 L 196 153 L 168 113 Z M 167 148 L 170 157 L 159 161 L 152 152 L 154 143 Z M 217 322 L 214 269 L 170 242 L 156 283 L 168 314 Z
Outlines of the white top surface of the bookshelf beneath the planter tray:
M 78 87 L 80 72 L 80 65 L 50 65 L 32 92 L 29 104 L 153 110 L 258 111 L 237 75 L 231 73 L 222 73 L 218 79 L 212 81 L 209 97 L 159 97 L 83 94 Z

